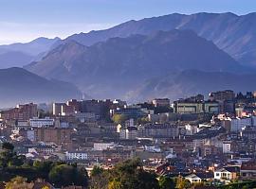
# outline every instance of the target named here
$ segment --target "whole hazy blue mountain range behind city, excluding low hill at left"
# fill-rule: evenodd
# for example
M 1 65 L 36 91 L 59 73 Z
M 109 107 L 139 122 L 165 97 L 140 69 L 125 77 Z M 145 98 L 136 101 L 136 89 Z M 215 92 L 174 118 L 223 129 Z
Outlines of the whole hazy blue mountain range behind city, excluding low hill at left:
M 76 85 L 95 98 L 130 102 L 153 97 L 174 100 L 222 89 L 245 92 L 256 88 L 255 34 L 256 13 L 174 13 L 64 40 L 39 38 L 0 45 L 0 68 L 24 66 L 52 85 L 63 80 L 72 93 L 81 94 Z M 51 94 L 45 96 L 52 99 Z

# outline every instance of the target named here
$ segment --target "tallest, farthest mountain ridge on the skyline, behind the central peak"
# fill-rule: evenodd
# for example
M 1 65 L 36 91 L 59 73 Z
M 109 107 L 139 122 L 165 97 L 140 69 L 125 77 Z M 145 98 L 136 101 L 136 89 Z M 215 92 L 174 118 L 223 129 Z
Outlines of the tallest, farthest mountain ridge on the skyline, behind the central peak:
M 172 29 L 191 29 L 199 36 L 215 43 L 233 59 L 244 65 L 256 66 L 256 13 L 241 16 L 230 12 L 201 12 L 191 15 L 174 13 L 132 20 L 105 30 L 74 34 L 64 41 L 74 40 L 83 45 L 91 45 L 113 37 L 148 35 L 153 31 Z

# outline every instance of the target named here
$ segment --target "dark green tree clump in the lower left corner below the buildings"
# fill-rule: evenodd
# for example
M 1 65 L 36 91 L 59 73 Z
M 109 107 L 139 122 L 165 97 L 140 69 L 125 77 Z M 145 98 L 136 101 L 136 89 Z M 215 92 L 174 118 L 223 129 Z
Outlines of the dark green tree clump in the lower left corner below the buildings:
M 14 146 L 9 143 L 2 145 L 0 154 L 1 181 L 9 181 L 9 185 L 16 182 L 19 182 L 20 185 L 26 185 L 26 180 L 43 179 L 57 187 L 73 184 L 87 186 L 88 176 L 84 168 L 64 162 L 30 162 L 24 156 L 17 155 L 13 149 Z

